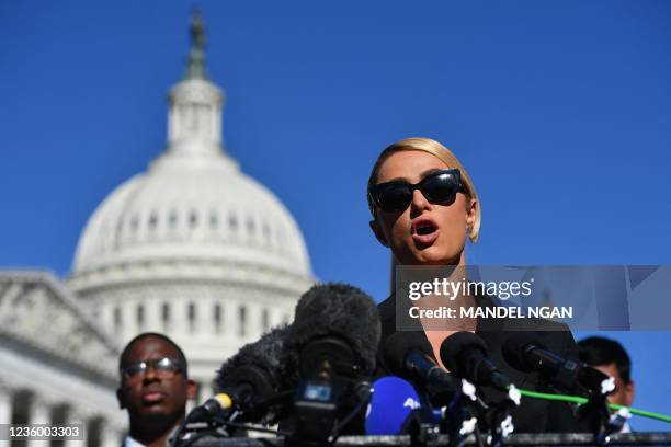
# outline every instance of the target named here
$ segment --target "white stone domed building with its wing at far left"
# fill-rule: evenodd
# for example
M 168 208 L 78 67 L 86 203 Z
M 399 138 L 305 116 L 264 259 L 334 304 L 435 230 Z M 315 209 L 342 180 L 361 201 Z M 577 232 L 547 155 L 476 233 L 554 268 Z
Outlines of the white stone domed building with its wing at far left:
M 192 39 L 164 152 L 93 213 L 66 283 L 0 271 L 0 423 L 82 421 L 89 445 L 115 445 L 128 340 L 172 337 L 202 399 L 221 362 L 288 321 L 312 284 L 292 215 L 224 148 L 225 94 L 207 78 L 197 15 Z

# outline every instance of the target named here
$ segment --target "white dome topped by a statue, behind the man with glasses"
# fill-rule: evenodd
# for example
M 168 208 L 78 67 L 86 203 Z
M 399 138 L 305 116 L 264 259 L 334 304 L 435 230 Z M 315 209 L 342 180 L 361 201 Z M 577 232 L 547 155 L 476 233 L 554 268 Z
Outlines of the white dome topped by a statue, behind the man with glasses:
M 120 346 L 164 332 L 209 385 L 242 344 L 292 319 L 314 277 L 291 213 L 225 150 L 226 96 L 207 77 L 197 14 L 191 34 L 167 148 L 90 217 L 68 287 Z

